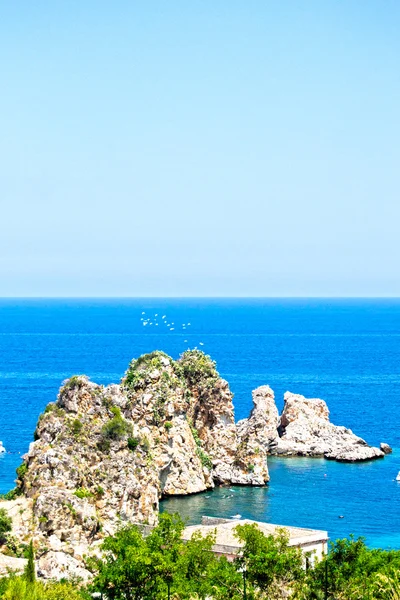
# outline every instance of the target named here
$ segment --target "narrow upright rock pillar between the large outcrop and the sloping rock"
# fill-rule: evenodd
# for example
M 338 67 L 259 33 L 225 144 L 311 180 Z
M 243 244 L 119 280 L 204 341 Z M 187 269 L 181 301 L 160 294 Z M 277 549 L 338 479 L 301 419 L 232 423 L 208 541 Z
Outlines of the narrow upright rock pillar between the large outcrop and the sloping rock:
M 253 481 L 269 480 L 267 455 L 278 443 L 279 414 L 274 392 L 267 386 L 253 391 L 253 408 L 248 419 L 237 423 L 239 445 L 236 461 L 251 465 Z

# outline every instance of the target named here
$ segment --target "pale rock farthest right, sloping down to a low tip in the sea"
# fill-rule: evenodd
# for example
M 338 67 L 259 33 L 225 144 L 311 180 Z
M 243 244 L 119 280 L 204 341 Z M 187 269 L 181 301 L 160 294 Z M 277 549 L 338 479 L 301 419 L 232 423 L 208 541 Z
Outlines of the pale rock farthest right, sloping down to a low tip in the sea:
M 379 448 L 368 446 L 346 427 L 329 421 L 326 403 L 319 398 L 305 398 L 286 392 L 280 420 L 280 438 L 271 454 L 284 456 L 324 456 L 328 459 L 355 462 L 381 458 Z

